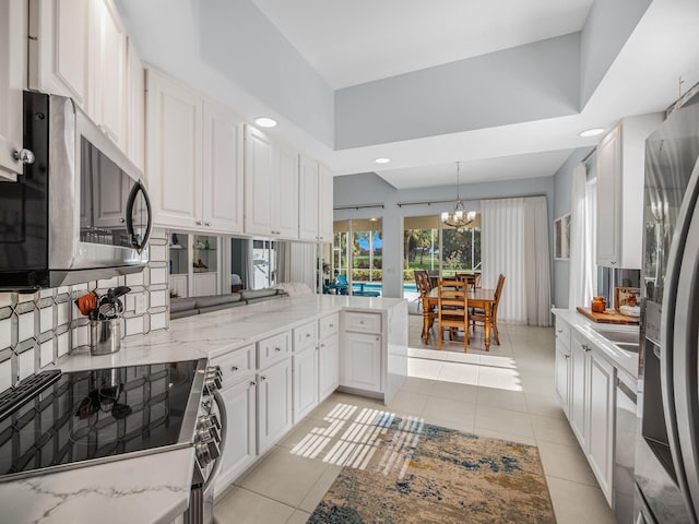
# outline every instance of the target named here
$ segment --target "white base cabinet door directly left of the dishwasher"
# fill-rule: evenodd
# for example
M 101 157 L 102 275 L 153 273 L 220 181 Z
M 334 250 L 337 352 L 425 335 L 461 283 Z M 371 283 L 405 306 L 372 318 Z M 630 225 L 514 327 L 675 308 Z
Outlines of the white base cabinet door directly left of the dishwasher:
M 615 370 L 606 360 L 590 358 L 589 458 L 600 488 L 612 504 L 614 467 Z

